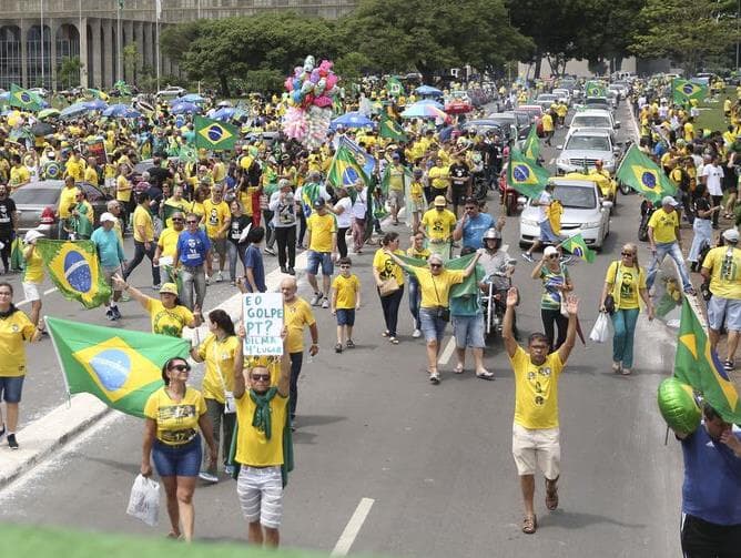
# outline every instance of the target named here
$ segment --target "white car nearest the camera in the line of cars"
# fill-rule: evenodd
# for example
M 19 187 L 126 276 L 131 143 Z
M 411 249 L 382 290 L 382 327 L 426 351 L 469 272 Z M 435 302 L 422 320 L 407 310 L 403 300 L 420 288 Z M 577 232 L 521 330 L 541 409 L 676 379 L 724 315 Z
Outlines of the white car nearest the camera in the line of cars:
M 610 234 L 610 207 L 612 202 L 602 201 L 597 184 L 591 181 L 554 179 L 554 199 L 561 202 L 561 236 L 581 233 L 588 246 L 600 250 Z M 539 209 L 524 201 L 520 214 L 519 244 L 527 247 L 540 235 Z

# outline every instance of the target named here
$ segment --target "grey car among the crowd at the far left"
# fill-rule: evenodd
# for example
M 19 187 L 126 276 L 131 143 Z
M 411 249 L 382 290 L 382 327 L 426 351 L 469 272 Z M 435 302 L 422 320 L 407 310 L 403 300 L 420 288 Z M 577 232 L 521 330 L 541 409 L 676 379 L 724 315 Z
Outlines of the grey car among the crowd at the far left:
M 43 180 L 26 184 L 11 194 L 16 209 L 20 212 L 19 232 L 26 234 L 31 229 L 43 233 L 47 239 L 58 237 L 58 220 L 54 216 L 59 207 L 59 195 L 64 187 L 62 180 Z M 98 186 L 82 182 L 78 184 L 88 196 L 95 212 L 93 226 L 98 226 L 102 213 L 108 211 L 106 204 L 113 197 Z

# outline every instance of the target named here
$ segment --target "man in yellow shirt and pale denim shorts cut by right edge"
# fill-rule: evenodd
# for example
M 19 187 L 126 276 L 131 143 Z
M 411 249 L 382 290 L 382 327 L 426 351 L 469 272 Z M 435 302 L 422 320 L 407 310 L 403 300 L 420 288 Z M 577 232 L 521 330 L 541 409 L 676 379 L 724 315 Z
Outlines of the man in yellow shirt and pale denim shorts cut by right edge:
M 727 356 L 723 368 L 727 372 L 735 367 L 735 351 L 739 348 L 741 332 L 741 250 L 739 231 L 729 229 L 723 232 L 723 246 L 708 252 L 702 263 L 702 276 L 710 281 L 712 296 L 708 302 L 708 326 L 710 346 L 718 345 L 720 331 L 725 318 L 728 331 Z

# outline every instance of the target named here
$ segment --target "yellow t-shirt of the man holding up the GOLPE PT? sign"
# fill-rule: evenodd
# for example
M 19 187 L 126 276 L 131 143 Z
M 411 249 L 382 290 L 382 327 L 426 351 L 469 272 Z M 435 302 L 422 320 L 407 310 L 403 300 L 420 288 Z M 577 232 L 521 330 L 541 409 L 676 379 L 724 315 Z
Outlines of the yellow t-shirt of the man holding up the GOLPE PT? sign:
M 235 459 L 242 465 L 253 467 L 270 467 L 283 465 L 283 428 L 285 428 L 288 398 L 275 394 L 271 399 L 271 437 L 252 426 L 255 414 L 255 403 L 245 392 L 236 399 L 236 423 L 238 435 L 236 438 Z

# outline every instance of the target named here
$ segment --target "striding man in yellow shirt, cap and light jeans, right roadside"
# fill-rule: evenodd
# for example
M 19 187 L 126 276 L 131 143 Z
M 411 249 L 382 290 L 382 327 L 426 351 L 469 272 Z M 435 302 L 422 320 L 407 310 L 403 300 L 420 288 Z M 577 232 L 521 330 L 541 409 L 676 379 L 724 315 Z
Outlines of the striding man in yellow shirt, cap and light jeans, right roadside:
M 672 196 L 667 195 L 661 200 L 661 209 L 653 212 L 648 224 L 648 236 L 651 245 L 653 260 L 646 278 L 646 287 L 650 291 L 661 263 L 670 256 L 677 264 L 679 275 L 682 280 L 682 288 L 689 295 L 694 295 L 694 288 L 690 282 L 690 275 L 684 265 L 682 255 L 682 237 L 679 234 L 679 214 L 676 207 L 679 204 Z

